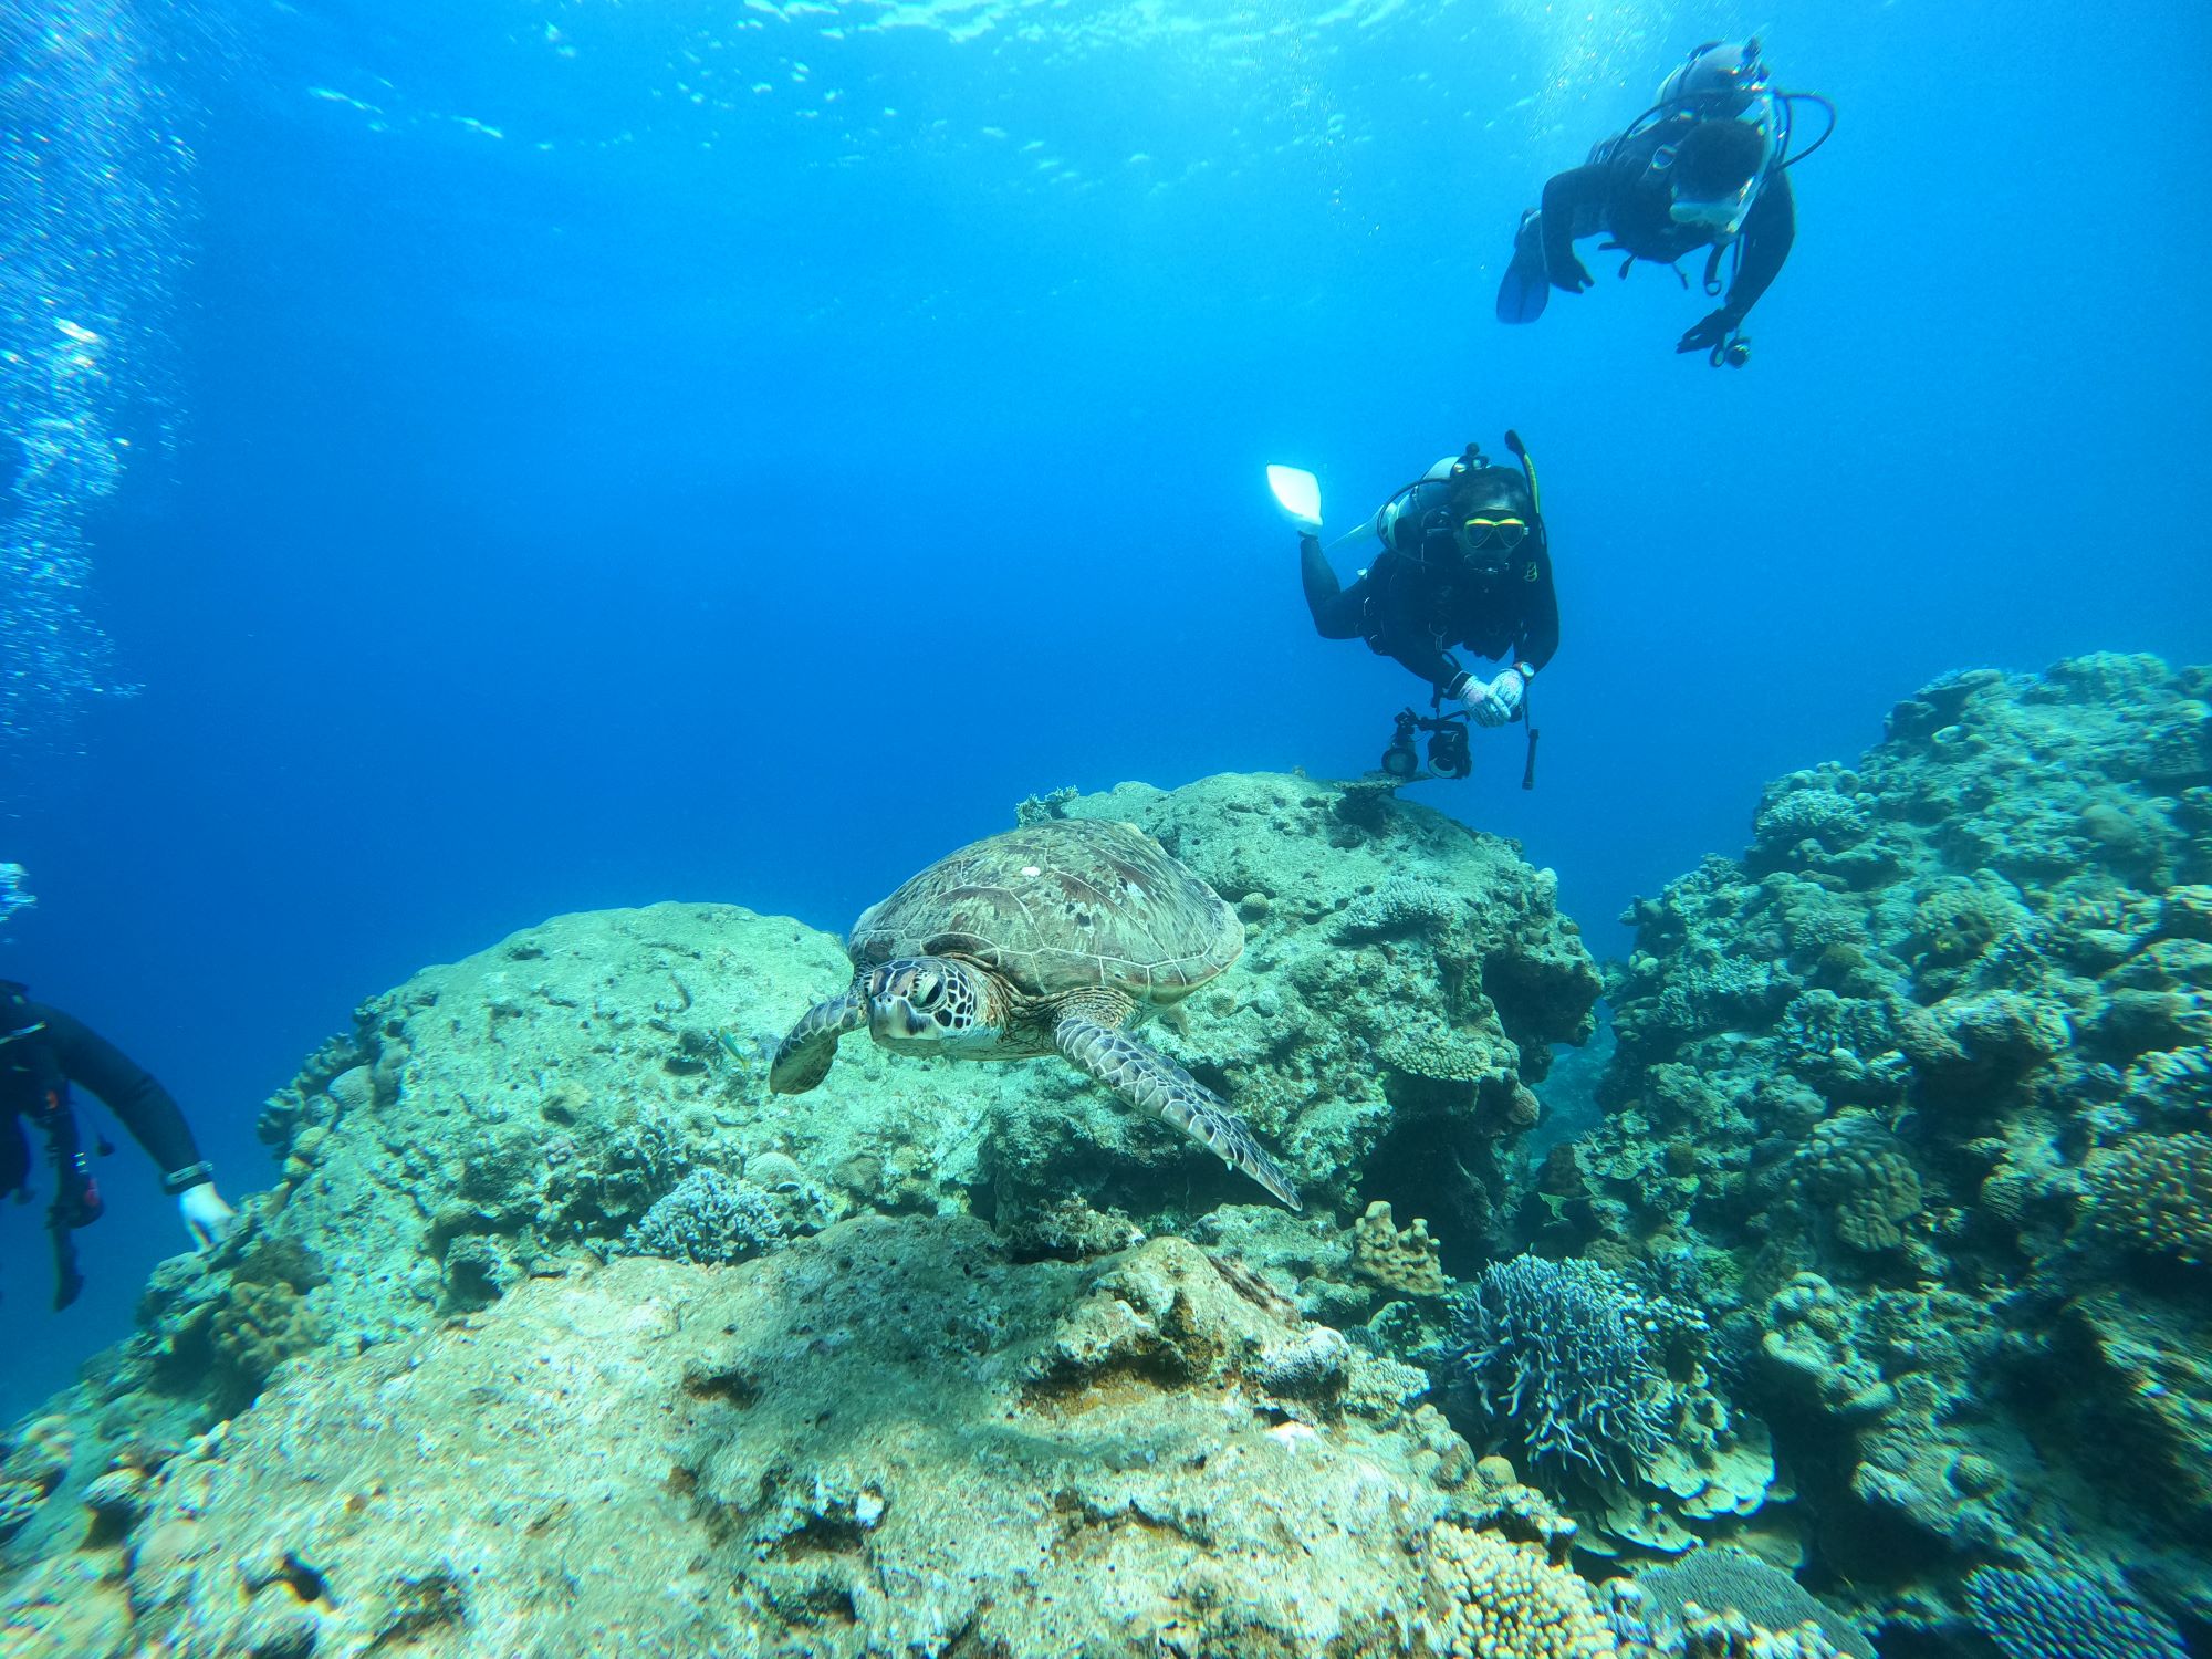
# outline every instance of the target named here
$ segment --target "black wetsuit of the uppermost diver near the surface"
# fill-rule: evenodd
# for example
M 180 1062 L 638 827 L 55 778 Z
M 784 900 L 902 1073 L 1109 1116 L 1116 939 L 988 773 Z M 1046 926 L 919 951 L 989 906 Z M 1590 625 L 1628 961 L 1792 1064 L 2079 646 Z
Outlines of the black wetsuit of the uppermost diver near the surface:
M 1670 115 L 1619 139 L 1601 161 L 1559 173 L 1544 186 L 1544 268 L 1557 285 L 1575 285 L 1562 283 L 1559 276 L 1582 263 L 1575 257 L 1577 237 L 1604 232 L 1610 239 L 1608 248 L 1619 246 L 1621 252 L 1657 259 L 1663 265 L 1712 246 L 1712 226 L 1674 221 L 1668 173 L 1652 168 L 1652 155 L 1666 144 L 1681 144 L 1699 119 L 1690 113 Z M 1790 243 L 1796 241 L 1796 201 L 1790 195 L 1790 175 L 1781 168 L 1770 170 L 1761 184 L 1739 239 L 1741 254 L 1728 296 L 1721 310 L 1683 336 L 1683 349 L 1719 345 L 1719 336 L 1743 323 L 1745 312 L 1759 303 L 1790 257 Z M 1701 338 L 1705 330 L 1712 338 Z

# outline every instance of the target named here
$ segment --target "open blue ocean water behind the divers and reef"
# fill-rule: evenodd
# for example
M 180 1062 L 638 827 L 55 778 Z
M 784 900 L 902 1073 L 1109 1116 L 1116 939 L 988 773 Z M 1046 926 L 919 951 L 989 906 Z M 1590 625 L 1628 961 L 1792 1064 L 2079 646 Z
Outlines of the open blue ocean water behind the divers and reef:
M 1595 252 L 1500 327 L 1544 177 L 1752 29 L 1843 113 L 1752 365 L 1674 356 L 1708 303 Z M 1334 529 L 1509 425 L 1564 615 L 1540 785 L 1515 730 L 1416 796 L 1615 949 L 1949 668 L 2212 655 L 2208 33 L 4 0 L 0 860 L 38 905 L 0 975 L 250 1190 L 261 1097 L 361 998 L 549 914 L 841 929 L 1029 792 L 1369 768 L 1416 686 L 1314 637 L 1261 469 Z M 135 1148 L 102 1175 L 62 1316 L 0 1217 L 0 1411 L 184 1243 Z

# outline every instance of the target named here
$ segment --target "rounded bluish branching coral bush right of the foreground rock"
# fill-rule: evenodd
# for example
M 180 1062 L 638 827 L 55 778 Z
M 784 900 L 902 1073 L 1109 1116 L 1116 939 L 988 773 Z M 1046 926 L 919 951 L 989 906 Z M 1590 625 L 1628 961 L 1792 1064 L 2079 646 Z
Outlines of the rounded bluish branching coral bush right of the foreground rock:
M 1668 1433 L 1650 1323 L 1590 1261 L 1515 1256 L 1460 1298 L 1447 1358 L 1533 1467 L 1628 1484 Z

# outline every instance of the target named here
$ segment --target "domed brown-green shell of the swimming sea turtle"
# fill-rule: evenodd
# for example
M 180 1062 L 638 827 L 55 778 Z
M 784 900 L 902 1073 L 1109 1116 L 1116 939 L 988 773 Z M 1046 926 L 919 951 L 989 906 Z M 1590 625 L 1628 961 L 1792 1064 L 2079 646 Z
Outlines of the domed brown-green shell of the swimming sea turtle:
M 1102 984 L 1166 1004 L 1243 953 L 1243 922 L 1137 825 L 1051 818 L 929 865 L 860 914 L 845 951 L 958 956 L 1033 998 Z

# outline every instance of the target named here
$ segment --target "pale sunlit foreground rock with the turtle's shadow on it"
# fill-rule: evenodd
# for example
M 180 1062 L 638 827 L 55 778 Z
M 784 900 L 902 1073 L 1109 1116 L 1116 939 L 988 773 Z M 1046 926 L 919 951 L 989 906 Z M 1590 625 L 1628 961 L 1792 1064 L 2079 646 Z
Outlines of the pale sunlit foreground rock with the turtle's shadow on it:
M 863 1219 L 624 1259 L 294 1365 L 159 1467 L 126 1553 L 0 1619 L 22 1659 L 1433 1652 L 1480 1601 L 1438 1597 L 1433 1528 L 1464 1555 L 1502 1504 L 1440 1484 L 1378 1360 L 1272 1389 L 1314 1329 L 1177 1239 L 1015 1265 L 975 1221 Z

